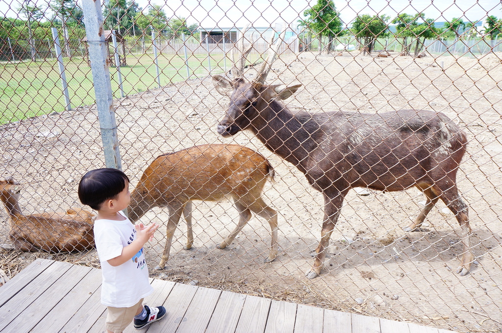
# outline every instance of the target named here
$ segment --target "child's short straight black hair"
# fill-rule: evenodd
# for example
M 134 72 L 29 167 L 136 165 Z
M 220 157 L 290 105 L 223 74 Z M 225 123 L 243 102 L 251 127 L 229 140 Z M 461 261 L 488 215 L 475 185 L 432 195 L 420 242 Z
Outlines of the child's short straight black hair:
M 116 199 L 129 182 L 129 177 L 118 169 L 91 170 L 78 184 L 78 198 L 83 204 L 99 210 L 104 201 Z

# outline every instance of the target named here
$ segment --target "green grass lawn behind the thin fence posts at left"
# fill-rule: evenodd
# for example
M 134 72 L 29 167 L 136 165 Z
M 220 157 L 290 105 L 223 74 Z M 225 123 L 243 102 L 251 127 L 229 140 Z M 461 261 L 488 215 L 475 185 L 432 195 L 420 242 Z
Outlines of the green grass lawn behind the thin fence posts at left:
M 250 55 L 256 61 L 258 55 Z M 124 94 L 131 95 L 157 88 L 157 71 L 153 54 L 128 55 L 127 66 L 120 67 Z M 159 54 L 157 57 L 161 86 L 187 79 L 183 55 Z M 72 108 L 95 103 L 91 68 L 82 58 L 64 58 L 65 75 Z M 230 69 L 230 59 L 226 61 Z M 208 75 L 207 55 L 191 55 L 188 58 L 190 78 Z M 62 112 L 66 106 L 62 92 L 59 66 L 56 60 L 24 61 L 0 64 L 0 107 L 3 112 L 0 124 L 30 117 Z M 118 71 L 110 67 L 113 98 L 120 98 Z M 223 55 L 211 55 L 211 73 L 224 71 Z

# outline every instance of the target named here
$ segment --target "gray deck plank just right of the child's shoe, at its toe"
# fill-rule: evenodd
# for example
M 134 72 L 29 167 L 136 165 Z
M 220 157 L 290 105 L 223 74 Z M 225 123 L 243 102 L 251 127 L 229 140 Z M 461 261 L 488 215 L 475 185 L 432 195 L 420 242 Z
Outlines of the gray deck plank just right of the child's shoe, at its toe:
M 167 318 L 162 319 L 160 325 L 152 325 L 149 327 L 148 332 L 174 333 L 181 320 L 183 320 L 183 316 L 185 315 L 185 312 L 188 309 L 188 306 L 190 305 L 197 289 L 197 286 L 176 283 L 164 303 L 167 310 Z

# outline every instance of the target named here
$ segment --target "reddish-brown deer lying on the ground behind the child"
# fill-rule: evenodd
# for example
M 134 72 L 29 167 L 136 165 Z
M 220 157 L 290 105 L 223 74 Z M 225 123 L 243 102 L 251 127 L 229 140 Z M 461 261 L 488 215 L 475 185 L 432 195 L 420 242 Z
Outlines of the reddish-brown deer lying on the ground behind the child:
M 94 214 L 81 208 L 66 213 L 23 215 L 19 206 L 21 185 L 13 178 L 0 180 L 0 200 L 9 215 L 9 239 L 16 250 L 51 253 L 94 248 Z

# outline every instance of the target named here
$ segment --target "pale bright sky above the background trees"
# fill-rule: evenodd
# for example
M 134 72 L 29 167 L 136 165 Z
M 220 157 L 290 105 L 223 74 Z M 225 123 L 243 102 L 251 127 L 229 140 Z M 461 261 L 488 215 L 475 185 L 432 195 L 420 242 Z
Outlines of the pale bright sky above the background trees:
M 17 17 L 16 8 L 23 0 L 0 0 L 0 16 Z M 49 0 L 29 0 L 46 4 Z M 81 2 L 82 0 L 78 0 Z M 89 1 L 89 0 L 85 0 Z M 92 0 L 90 0 L 92 1 Z M 101 0 L 102 2 L 103 0 Z M 487 15 L 502 18 L 500 0 L 333 0 L 345 24 L 357 15 L 388 15 L 391 20 L 399 13 L 425 13 L 437 22 L 462 18 L 478 21 Z M 269 27 L 275 23 L 296 24 L 303 12 L 317 0 L 136 0 L 147 8 L 149 4 L 162 6 L 168 17 L 186 18 L 189 25 L 198 23 L 204 28 L 242 27 L 251 23 L 255 27 Z

